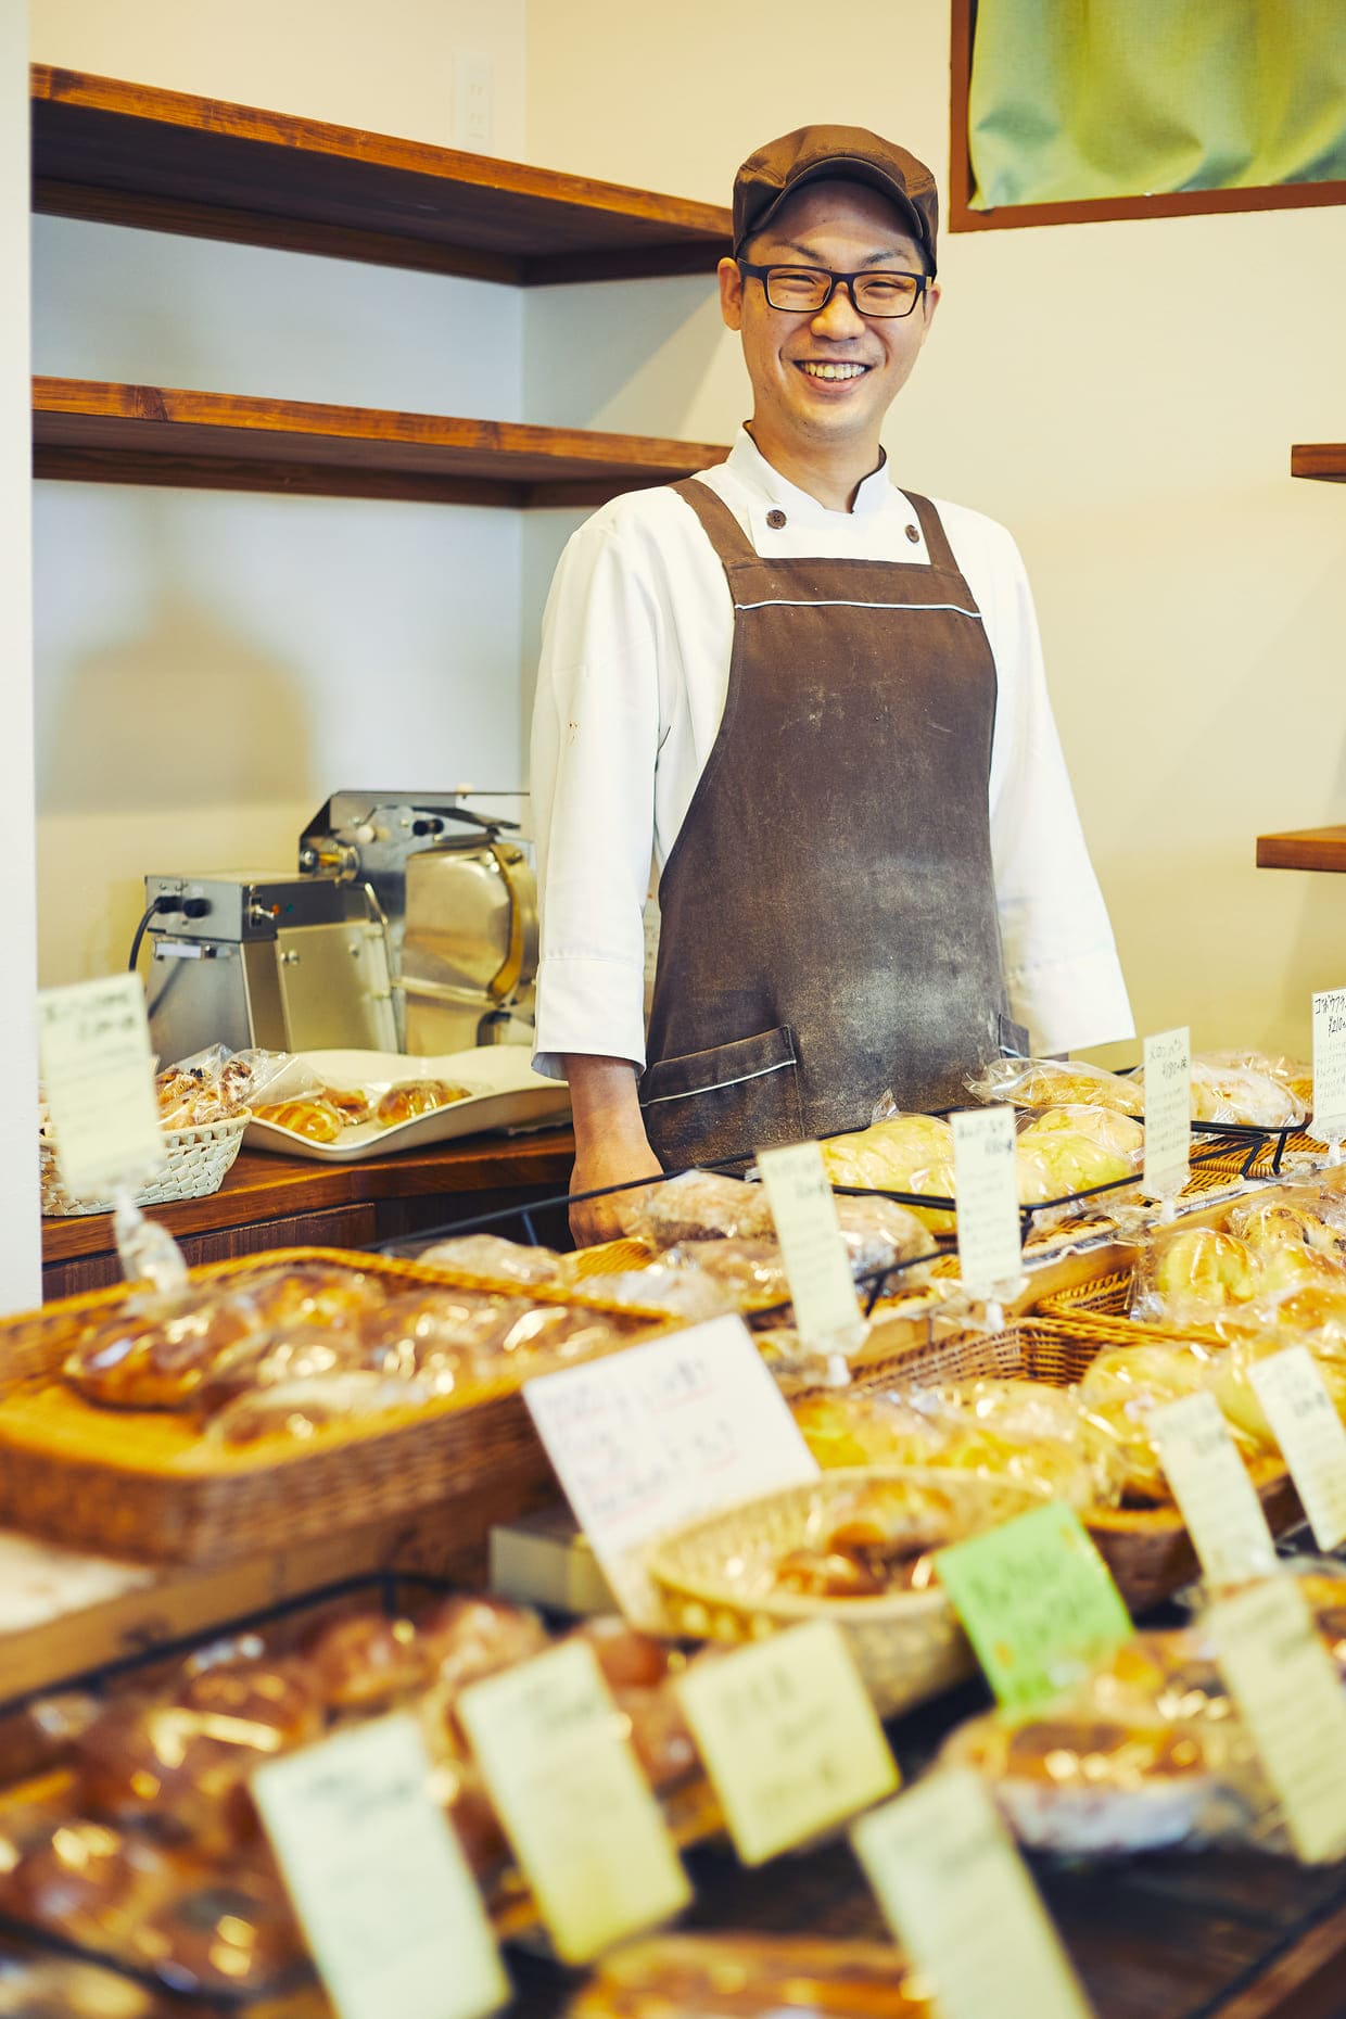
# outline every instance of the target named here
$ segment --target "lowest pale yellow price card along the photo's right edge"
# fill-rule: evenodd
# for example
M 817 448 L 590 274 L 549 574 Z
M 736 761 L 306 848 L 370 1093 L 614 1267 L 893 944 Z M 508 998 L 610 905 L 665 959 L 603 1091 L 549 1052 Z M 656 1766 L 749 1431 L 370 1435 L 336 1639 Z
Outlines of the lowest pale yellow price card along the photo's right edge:
M 1346 1696 L 1294 1577 L 1269 1577 L 1205 1615 L 1229 1694 L 1306 1864 L 1346 1851 Z

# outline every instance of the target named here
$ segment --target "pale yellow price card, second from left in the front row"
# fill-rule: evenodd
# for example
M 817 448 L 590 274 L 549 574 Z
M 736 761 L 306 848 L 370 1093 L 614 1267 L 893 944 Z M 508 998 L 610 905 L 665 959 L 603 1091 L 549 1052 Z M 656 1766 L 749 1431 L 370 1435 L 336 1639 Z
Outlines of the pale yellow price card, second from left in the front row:
M 458 1716 L 563 1962 L 688 1904 L 591 1648 L 569 1641 L 474 1684 Z

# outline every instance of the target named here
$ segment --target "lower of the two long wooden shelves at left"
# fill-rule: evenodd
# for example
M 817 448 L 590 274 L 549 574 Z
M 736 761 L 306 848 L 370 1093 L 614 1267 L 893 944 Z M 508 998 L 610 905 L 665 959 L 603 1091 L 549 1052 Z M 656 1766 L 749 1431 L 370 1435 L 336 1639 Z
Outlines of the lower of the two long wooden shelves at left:
M 36 476 L 515 509 L 603 505 L 728 454 L 716 442 L 54 378 L 32 382 L 32 438 Z

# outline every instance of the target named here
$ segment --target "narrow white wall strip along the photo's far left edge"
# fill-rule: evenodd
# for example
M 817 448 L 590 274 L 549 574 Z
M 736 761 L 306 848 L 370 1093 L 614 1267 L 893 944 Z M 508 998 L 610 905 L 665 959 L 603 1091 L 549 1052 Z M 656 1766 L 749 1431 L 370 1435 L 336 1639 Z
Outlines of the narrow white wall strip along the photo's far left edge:
M 32 888 L 32 624 L 28 590 L 28 48 L 0 8 L 0 1312 L 40 1298 Z

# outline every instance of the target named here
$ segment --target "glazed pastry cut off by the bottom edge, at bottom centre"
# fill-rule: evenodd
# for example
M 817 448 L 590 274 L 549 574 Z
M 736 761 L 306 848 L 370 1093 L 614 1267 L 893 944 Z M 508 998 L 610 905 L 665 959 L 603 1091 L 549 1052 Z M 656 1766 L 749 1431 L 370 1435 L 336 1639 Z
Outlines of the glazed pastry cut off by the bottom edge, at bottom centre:
M 660 1934 L 609 1948 L 567 2019 L 932 2019 L 896 1948 Z

